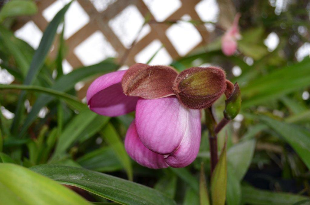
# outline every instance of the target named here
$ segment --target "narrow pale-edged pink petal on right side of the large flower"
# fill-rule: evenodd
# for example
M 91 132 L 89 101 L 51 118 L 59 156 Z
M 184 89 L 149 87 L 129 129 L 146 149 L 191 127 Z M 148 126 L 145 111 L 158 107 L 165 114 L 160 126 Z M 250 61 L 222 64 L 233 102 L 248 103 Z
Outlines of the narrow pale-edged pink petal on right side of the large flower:
M 171 167 L 186 167 L 197 157 L 201 138 L 200 111 L 191 110 L 189 115 L 190 120 L 188 120 L 187 129 L 180 146 L 172 154 L 165 157 L 166 163 Z

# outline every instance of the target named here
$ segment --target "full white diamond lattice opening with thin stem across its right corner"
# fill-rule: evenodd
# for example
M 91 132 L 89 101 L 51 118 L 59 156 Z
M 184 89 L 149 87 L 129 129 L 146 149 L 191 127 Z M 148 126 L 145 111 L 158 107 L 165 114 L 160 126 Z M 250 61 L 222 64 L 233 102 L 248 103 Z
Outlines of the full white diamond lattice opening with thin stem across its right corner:
M 112 28 L 113 32 L 126 48 L 131 46 L 143 23 L 144 18 L 134 5 L 126 7 L 108 22 L 110 28 Z M 146 36 L 150 30 L 150 26 L 148 24 L 145 25 L 139 33 L 138 40 Z

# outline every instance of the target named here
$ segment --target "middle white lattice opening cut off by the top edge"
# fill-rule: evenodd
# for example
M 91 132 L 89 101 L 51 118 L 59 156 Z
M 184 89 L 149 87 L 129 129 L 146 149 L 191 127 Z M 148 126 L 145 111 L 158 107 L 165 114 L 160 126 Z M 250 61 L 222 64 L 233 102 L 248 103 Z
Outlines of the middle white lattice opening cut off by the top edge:
M 153 14 L 157 21 L 164 21 L 176 10 L 178 10 L 182 3 L 179 0 L 165 0 L 165 1 L 155 1 L 155 0 L 143 0 L 148 9 Z

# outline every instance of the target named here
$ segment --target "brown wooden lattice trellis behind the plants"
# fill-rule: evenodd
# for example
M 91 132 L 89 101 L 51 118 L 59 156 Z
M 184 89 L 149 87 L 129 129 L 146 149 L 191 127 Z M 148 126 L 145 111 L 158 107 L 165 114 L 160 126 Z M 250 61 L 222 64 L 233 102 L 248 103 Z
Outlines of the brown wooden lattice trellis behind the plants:
M 55 1 L 56 0 L 37 0 L 36 2 L 38 5 L 38 14 L 31 17 L 20 18 L 18 22 L 14 25 L 13 29 L 17 30 L 29 20 L 32 20 L 38 26 L 38 28 L 40 28 L 41 31 L 44 31 L 47 27 L 48 22 L 42 16 L 42 12 Z M 89 15 L 90 21 L 88 22 L 88 24 L 86 24 L 84 27 L 82 27 L 80 30 L 78 30 L 75 34 L 73 34 L 66 40 L 66 46 L 68 46 L 69 51 L 66 59 L 73 68 L 78 68 L 83 65 L 81 60 L 74 54 L 74 48 L 97 30 L 100 30 L 103 33 L 103 35 L 118 53 L 118 57 L 121 59 L 127 48 L 123 46 L 122 42 L 117 38 L 115 33 L 108 26 L 108 21 L 113 19 L 123 9 L 125 9 L 129 5 L 135 5 L 143 16 L 151 14 L 151 12 L 148 10 L 148 7 L 144 4 L 142 0 L 117 0 L 113 4 L 110 4 L 104 12 L 98 12 L 89 0 L 77 1 L 86 11 L 87 15 Z M 171 14 L 166 20 L 178 20 L 185 14 L 189 15 L 193 20 L 200 20 L 198 14 L 195 11 L 195 5 L 201 0 L 180 1 L 182 2 L 182 6 L 173 14 Z M 152 15 L 151 19 L 154 19 Z M 143 50 L 144 47 L 148 46 L 154 39 L 160 40 L 165 45 L 167 52 L 173 59 L 179 58 L 180 56 L 178 52 L 175 50 L 175 47 L 171 44 L 165 34 L 169 26 L 170 25 L 168 24 L 150 24 L 151 31 L 132 47 L 124 63 L 126 65 L 134 64 L 135 55 L 138 54 L 141 50 Z M 209 33 L 206 30 L 205 26 L 203 26 L 202 24 L 198 25 L 197 30 L 201 34 L 203 41 L 201 41 L 195 48 L 201 46 L 203 43 L 206 43 L 209 40 Z M 57 45 L 57 39 L 58 38 L 56 38 L 55 40 L 55 46 Z M 55 58 L 56 52 L 57 49 L 54 49 L 51 52 L 50 57 Z M 85 86 L 81 90 L 79 90 L 79 98 L 85 97 L 88 86 L 89 82 L 86 82 Z

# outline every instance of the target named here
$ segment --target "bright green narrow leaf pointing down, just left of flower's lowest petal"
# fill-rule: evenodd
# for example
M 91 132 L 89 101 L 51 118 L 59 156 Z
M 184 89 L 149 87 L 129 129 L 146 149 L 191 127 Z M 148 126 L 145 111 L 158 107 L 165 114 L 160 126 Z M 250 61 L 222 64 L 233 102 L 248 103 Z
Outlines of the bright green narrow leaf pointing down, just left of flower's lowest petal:
M 106 141 L 112 147 L 118 160 L 122 163 L 127 173 L 128 179 L 132 181 L 133 172 L 131 161 L 114 126 L 111 123 L 108 123 L 100 133 L 104 141 Z

